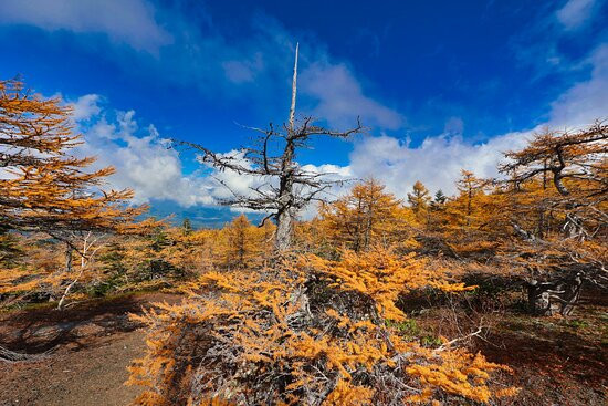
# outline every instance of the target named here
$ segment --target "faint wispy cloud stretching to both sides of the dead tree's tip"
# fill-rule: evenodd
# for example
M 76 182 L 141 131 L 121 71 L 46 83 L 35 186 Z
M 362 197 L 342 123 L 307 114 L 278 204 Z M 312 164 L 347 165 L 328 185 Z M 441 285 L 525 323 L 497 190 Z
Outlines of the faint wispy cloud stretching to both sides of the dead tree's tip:
M 165 76 L 195 84 L 201 92 L 223 97 L 251 97 L 269 110 L 286 111 L 296 38 L 300 37 L 298 106 L 304 114 L 333 125 L 364 124 L 396 129 L 403 115 L 381 97 L 370 94 L 356 72 L 339 61 L 323 43 L 306 33 L 290 32 L 275 19 L 255 14 L 245 24 L 249 34 L 230 41 L 218 29 L 203 30 L 179 20 L 176 43 L 164 50 L 158 63 Z M 262 91 L 263 90 L 263 91 Z M 279 107 L 279 108 L 276 108 Z M 271 113 L 272 115 L 273 113 Z

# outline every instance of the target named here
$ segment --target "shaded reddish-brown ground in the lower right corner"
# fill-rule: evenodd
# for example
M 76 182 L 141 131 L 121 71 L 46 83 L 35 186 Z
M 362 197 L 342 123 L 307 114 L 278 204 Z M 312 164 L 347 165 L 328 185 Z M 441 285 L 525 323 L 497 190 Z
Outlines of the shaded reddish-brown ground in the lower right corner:
M 531 316 L 522 311 L 488 311 L 490 327 L 470 342 L 494 363 L 507 365 L 499 385 L 520 387 L 517 396 L 495 402 L 500 406 L 606 406 L 608 405 L 608 298 L 584 291 L 579 309 L 569 317 Z M 475 331 L 453 310 L 431 308 L 417 321 L 434 335 L 459 336 Z M 479 321 L 478 321 L 479 323 Z M 459 331 L 454 331 L 458 324 Z M 468 404 L 468 403 L 464 403 Z

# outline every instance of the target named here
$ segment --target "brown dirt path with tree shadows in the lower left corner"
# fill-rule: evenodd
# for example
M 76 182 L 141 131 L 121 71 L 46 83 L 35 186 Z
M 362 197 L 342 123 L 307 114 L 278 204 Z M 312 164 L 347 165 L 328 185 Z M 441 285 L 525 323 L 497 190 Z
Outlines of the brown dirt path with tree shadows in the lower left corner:
M 143 305 L 178 296 L 145 294 L 56 312 L 0 315 L 0 343 L 13 351 L 54 351 L 25 363 L 0 362 L 0 405 L 129 404 L 139 387 L 125 386 L 126 367 L 141 355 L 144 332 L 128 320 Z

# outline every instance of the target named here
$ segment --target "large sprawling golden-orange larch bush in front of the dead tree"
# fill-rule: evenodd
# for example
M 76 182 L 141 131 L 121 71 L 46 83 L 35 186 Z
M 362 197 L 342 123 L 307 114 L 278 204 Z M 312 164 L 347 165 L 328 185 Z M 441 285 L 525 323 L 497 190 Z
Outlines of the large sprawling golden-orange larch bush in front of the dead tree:
M 409 289 L 462 291 L 442 270 L 390 250 L 301 257 L 261 271 L 209 272 L 181 304 L 136 316 L 148 350 L 130 368 L 137 405 L 391 405 L 511 395 L 500 365 L 400 334 L 395 301 Z M 390 323 L 394 322 L 394 323 Z

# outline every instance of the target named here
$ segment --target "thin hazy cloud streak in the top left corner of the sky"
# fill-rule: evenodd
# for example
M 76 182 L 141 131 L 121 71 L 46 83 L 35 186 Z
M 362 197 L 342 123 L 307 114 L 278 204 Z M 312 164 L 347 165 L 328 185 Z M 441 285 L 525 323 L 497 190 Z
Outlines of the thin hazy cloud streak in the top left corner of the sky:
M 171 42 L 145 0 L 2 0 L 0 23 L 105 33 L 116 42 L 153 53 Z

